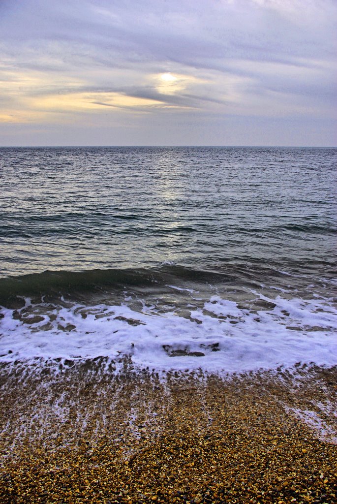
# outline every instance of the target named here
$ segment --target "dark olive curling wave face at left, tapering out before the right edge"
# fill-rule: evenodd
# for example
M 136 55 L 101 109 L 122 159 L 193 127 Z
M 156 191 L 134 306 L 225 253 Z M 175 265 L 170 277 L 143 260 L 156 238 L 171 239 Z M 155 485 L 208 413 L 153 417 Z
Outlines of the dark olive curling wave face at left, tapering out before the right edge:
M 255 268 L 256 269 L 256 268 Z M 177 285 L 183 290 L 209 290 L 210 286 L 220 287 L 228 283 L 245 283 L 256 287 L 254 278 L 259 275 L 280 278 L 278 269 L 261 266 L 254 272 L 254 267 L 247 265 L 219 265 L 217 269 L 198 269 L 164 261 L 155 268 L 94 269 L 86 271 L 43 271 L 21 276 L 0 278 L 0 304 L 7 306 L 17 297 L 62 296 L 83 293 L 122 292 L 127 289 L 146 289 L 163 291 L 170 285 Z

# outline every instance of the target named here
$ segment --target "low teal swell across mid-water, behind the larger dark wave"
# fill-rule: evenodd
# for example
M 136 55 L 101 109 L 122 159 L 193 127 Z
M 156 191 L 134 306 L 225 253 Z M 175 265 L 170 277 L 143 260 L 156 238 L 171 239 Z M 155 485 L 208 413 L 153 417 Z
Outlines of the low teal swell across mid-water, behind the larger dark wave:
M 136 223 L 136 224 L 135 224 Z M 217 223 L 210 219 L 210 222 L 196 221 L 193 225 L 178 225 L 176 227 L 152 224 L 147 219 L 138 215 L 114 215 L 114 216 L 74 216 L 74 218 L 65 218 L 63 216 L 32 217 L 29 219 L 20 219 L 18 222 L 5 223 L 0 225 L 0 236 L 4 238 L 34 238 L 40 236 L 60 236 L 66 239 L 70 235 L 78 239 L 83 237 L 94 237 L 105 235 L 109 236 L 127 234 L 133 236 L 135 233 L 144 234 L 150 240 L 155 237 L 170 235 L 186 235 L 194 233 L 199 241 L 210 243 L 210 235 L 227 237 L 238 237 L 247 235 L 258 237 L 259 239 L 273 237 L 274 240 L 282 243 L 284 233 L 299 232 L 308 235 L 335 235 L 337 227 L 331 223 L 326 225 L 319 224 L 278 224 L 272 226 L 244 226 L 231 223 Z

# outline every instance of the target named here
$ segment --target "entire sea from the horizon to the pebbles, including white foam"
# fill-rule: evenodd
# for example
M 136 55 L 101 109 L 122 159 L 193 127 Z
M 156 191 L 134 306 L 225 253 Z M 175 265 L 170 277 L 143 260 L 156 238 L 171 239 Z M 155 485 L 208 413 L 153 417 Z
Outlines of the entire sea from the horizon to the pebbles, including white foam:
M 336 159 L 0 149 L 0 362 L 337 364 Z

